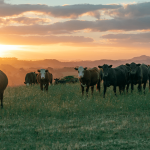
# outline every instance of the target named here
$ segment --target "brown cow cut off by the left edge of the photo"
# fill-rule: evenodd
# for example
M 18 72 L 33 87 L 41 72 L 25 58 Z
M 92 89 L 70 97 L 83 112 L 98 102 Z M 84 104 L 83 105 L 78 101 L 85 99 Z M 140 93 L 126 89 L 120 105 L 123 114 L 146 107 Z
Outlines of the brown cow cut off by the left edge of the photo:
M 3 94 L 4 90 L 8 85 L 8 78 L 4 72 L 0 70 L 0 99 L 1 99 L 1 108 L 3 108 Z

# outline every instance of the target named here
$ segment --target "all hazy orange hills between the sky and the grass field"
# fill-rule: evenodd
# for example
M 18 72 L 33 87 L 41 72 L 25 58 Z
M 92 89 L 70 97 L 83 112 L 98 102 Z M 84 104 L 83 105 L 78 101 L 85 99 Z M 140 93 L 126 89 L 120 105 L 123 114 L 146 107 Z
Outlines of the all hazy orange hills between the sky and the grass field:
M 88 68 L 98 67 L 99 65 L 109 64 L 117 67 L 126 63 L 145 63 L 150 64 L 149 56 L 139 56 L 128 60 L 95 60 L 95 61 L 72 61 L 61 62 L 55 59 L 45 59 L 39 61 L 25 61 L 17 58 L 0 58 L 0 70 L 8 76 L 9 86 L 24 85 L 25 75 L 28 72 L 37 72 L 38 69 L 45 68 L 53 74 L 53 78 L 62 78 L 64 76 L 73 75 L 77 77 L 76 66 L 84 66 Z

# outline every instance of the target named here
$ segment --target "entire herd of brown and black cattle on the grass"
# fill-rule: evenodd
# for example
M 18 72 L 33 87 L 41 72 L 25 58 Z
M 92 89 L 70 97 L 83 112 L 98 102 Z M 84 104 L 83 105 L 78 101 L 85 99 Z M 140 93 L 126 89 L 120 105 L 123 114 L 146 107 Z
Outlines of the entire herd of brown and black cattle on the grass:
M 100 68 L 100 69 L 98 69 Z M 94 67 L 92 69 L 83 68 L 82 66 L 74 68 L 78 71 L 78 79 L 72 79 L 72 83 L 80 81 L 82 95 L 84 94 L 84 87 L 86 87 L 86 95 L 88 96 L 89 87 L 91 87 L 92 95 L 94 90 L 94 85 L 96 85 L 97 90 L 100 92 L 100 84 L 103 80 L 104 92 L 103 97 L 105 97 L 106 89 L 109 86 L 113 86 L 114 93 L 116 95 L 116 87 L 119 87 L 119 92 L 128 92 L 129 85 L 131 85 L 131 92 L 134 89 L 134 85 L 138 84 L 138 91 L 143 90 L 145 93 L 146 83 L 149 80 L 150 89 L 150 66 L 145 64 L 136 64 L 132 62 L 131 64 L 120 65 L 116 68 L 112 68 L 112 65 L 104 64 L 103 66 Z M 27 73 L 25 76 L 24 84 L 32 85 L 39 83 L 40 89 L 43 91 L 43 87 L 48 91 L 49 84 L 52 84 L 53 75 L 46 69 L 38 70 L 38 74 L 35 72 Z M 65 80 L 60 80 L 58 78 L 54 79 L 55 84 L 66 83 Z M 3 108 L 3 93 L 8 85 L 8 78 L 5 73 L 0 71 L 0 99 L 1 108 Z

